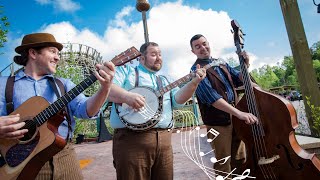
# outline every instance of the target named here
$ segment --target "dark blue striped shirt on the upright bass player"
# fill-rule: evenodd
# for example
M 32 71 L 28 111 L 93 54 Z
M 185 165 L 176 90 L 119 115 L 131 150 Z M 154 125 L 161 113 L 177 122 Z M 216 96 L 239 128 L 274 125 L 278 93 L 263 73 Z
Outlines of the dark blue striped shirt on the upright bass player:
M 201 63 L 203 63 L 201 65 L 204 66 L 206 64 L 209 64 L 210 62 L 212 62 L 212 59 L 201 60 Z M 242 82 L 239 78 L 240 72 L 235 70 L 234 68 L 231 68 L 227 63 L 225 65 L 226 65 L 227 70 L 231 74 L 231 78 L 232 78 L 232 81 L 235 84 L 235 86 L 236 87 L 240 86 L 242 84 Z M 227 98 L 228 98 L 227 101 L 229 103 L 234 102 L 234 93 L 232 90 L 232 86 L 228 80 L 228 77 L 226 77 L 226 75 L 223 73 L 223 70 L 219 66 L 213 66 L 211 68 L 213 68 L 214 71 L 216 71 L 219 74 L 219 76 L 222 79 L 222 83 L 226 87 L 226 94 L 227 94 Z M 191 70 L 194 71 L 195 69 L 196 69 L 196 65 L 193 65 L 191 67 Z M 196 95 L 197 95 L 197 98 L 202 103 L 205 103 L 208 105 L 212 105 L 218 99 L 222 98 L 222 96 L 215 89 L 212 88 L 211 83 L 208 79 L 208 76 L 206 76 L 206 78 L 199 83 L 198 88 L 196 90 Z

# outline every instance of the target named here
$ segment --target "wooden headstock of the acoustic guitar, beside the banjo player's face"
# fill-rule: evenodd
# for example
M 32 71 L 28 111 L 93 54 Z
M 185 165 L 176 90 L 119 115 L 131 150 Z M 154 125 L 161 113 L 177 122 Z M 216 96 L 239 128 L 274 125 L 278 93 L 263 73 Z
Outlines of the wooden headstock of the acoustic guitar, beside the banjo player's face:
M 132 46 L 131 48 L 114 57 L 111 62 L 116 66 L 122 66 L 139 56 L 141 56 L 141 53 L 134 46 Z

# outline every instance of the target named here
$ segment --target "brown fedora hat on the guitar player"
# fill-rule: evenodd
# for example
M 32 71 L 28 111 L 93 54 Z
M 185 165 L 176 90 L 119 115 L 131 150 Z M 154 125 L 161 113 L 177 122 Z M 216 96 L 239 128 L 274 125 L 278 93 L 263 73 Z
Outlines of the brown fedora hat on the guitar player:
M 63 48 L 61 43 L 58 43 L 54 36 L 49 33 L 34 33 L 25 35 L 22 39 L 21 45 L 16 47 L 15 51 L 21 54 L 22 51 L 33 47 L 49 47 L 53 46 L 59 49 Z

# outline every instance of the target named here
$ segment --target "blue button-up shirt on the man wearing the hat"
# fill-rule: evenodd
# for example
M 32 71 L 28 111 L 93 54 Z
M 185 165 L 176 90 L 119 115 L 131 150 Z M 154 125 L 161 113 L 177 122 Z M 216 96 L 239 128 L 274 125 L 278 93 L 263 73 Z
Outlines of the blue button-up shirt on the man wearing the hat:
M 23 102 L 34 96 L 41 96 L 45 98 L 50 104 L 57 100 L 54 90 L 49 84 L 48 78 L 53 78 L 52 75 L 45 75 L 39 80 L 26 75 L 23 70 L 19 71 L 15 76 L 14 89 L 13 89 L 13 103 L 14 109 L 18 108 Z M 0 77 L 0 116 L 7 115 L 5 87 L 8 77 Z M 71 80 L 59 78 L 65 86 L 65 91 L 71 90 L 75 84 Z M 60 91 L 60 89 L 58 88 Z M 75 120 L 73 116 L 78 118 L 88 119 L 87 103 L 88 98 L 84 94 L 78 95 L 74 100 L 68 104 L 69 115 L 71 117 L 72 132 L 75 128 Z M 92 117 L 92 119 L 95 117 Z M 66 120 L 59 126 L 59 134 L 64 138 L 68 134 L 68 122 Z M 72 136 L 72 135 L 71 135 Z M 69 136 L 69 137 L 71 137 Z

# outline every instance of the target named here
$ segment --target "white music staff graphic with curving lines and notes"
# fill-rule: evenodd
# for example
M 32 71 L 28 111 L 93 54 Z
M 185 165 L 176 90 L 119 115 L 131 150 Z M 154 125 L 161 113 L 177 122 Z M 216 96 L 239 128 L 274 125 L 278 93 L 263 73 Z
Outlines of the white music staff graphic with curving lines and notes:
M 198 121 L 194 120 L 196 119 L 196 116 L 191 111 L 176 110 L 174 111 L 174 119 L 179 119 L 179 121 L 175 122 L 182 125 L 176 132 L 180 134 L 181 149 L 183 153 L 192 162 L 199 166 L 210 180 L 225 180 L 232 178 L 233 180 L 241 180 L 255 178 L 250 176 L 249 169 L 244 171 L 242 175 L 234 173 L 234 170 L 232 172 L 223 172 L 214 169 L 212 166 L 213 163 L 225 164 L 229 159 L 231 159 L 231 156 L 221 159 L 214 157 L 214 149 L 212 149 L 210 143 L 216 140 L 216 138 L 221 134 L 215 129 L 207 130 L 201 128 Z M 207 138 L 207 136 L 209 138 Z M 204 137 L 206 139 L 204 139 Z M 217 173 L 219 173 L 220 176 L 218 176 Z M 182 177 L 182 179 L 184 178 Z

